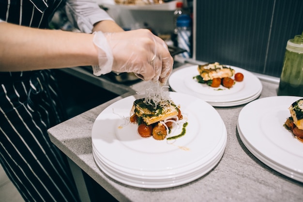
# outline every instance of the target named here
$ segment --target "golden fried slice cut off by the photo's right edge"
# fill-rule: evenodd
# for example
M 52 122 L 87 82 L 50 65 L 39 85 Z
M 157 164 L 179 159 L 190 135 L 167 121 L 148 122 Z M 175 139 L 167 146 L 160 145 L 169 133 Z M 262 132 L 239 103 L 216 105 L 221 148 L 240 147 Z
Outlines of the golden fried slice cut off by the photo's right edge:
M 293 123 L 299 129 L 303 130 L 303 99 L 299 99 L 292 103 L 288 109 L 293 119 Z

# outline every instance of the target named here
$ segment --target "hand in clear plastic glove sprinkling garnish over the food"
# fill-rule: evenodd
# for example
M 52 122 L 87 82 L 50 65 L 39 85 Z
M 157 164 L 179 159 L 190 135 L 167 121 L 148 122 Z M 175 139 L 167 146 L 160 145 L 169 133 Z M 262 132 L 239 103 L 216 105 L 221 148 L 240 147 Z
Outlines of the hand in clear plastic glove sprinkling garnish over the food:
M 166 43 L 146 29 L 114 33 L 94 32 L 99 66 L 94 75 L 111 71 L 133 72 L 143 80 L 165 84 L 172 71 L 173 58 Z

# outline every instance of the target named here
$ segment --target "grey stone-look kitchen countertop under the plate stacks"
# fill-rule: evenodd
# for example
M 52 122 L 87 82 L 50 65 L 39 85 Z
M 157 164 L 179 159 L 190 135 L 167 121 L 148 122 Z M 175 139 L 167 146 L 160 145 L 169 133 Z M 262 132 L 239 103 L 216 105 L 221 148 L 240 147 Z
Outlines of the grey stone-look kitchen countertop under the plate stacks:
M 191 64 L 184 64 L 176 69 Z M 66 70 L 81 75 L 79 69 Z M 82 72 L 83 73 L 83 72 Z M 86 74 L 86 73 L 83 73 Z M 98 80 L 86 75 L 90 80 Z M 259 98 L 276 96 L 277 79 L 264 79 Z M 93 81 L 92 81 L 93 82 Z M 101 82 L 100 79 L 99 81 Z M 107 80 L 105 81 L 107 82 Z M 101 82 L 102 83 L 102 82 Z M 120 202 L 302 202 L 303 183 L 288 178 L 269 168 L 252 155 L 243 145 L 237 131 L 237 120 L 245 105 L 236 107 L 215 107 L 227 127 L 227 145 L 220 162 L 199 179 L 177 187 L 165 189 L 141 189 L 123 185 L 107 177 L 94 162 L 91 145 L 91 128 L 96 117 L 110 104 L 140 92 L 147 82 L 125 86 L 105 85 L 107 90 L 123 94 L 96 108 L 88 110 L 48 130 L 51 141 L 83 171 L 103 186 Z M 119 148 L 117 148 L 119 150 Z

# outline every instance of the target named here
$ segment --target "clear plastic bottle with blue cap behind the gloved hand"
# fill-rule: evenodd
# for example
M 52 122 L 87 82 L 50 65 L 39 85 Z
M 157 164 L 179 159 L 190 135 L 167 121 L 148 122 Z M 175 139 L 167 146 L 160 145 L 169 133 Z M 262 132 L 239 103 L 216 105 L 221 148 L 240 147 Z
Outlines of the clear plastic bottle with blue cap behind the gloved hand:
M 192 18 L 188 15 L 181 15 L 177 18 L 178 28 L 178 47 L 186 51 L 181 53 L 183 58 L 191 58 L 191 37 L 192 37 Z

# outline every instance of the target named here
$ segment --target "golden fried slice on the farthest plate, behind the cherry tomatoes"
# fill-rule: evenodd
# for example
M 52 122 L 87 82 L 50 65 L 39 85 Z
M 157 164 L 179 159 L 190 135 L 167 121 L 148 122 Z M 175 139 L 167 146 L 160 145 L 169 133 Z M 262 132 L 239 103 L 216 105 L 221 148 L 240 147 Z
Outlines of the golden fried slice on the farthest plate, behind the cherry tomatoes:
M 234 69 L 221 65 L 219 62 L 198 65 L 198 72 L 205 81 L 212 80 L 213 78 L 230 78 L 235 74 Z

